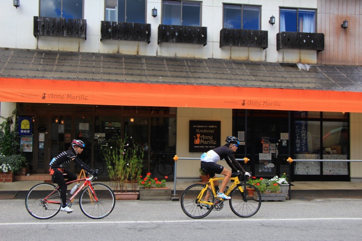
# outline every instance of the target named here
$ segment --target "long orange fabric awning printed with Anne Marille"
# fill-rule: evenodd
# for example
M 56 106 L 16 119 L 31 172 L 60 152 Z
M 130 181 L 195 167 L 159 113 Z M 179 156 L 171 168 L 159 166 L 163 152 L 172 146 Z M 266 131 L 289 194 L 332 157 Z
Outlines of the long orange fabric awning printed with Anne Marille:
M 0 78 L 0 102 L 362 113 L 362 93 Z

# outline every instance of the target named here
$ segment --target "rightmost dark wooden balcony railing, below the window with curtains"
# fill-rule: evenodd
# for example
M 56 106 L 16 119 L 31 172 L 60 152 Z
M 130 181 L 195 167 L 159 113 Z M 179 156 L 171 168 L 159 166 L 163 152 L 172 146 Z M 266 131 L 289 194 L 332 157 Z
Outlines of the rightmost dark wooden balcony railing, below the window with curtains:
M 277 33 L 277 50 L 280 49 L 323 51 L 324 34 L 302 32 Z

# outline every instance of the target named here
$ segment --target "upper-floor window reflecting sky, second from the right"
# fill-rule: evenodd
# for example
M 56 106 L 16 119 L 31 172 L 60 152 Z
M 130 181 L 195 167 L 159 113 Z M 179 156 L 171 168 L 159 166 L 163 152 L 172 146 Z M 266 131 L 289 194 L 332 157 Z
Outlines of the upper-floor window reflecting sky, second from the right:
M 223 27 L 260 30 L 260 6 L 224 4 Z

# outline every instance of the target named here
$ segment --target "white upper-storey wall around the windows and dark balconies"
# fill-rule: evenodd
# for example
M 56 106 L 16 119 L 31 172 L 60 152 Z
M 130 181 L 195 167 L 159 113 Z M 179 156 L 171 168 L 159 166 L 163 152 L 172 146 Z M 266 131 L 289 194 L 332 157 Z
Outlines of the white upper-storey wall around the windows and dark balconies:
M 84 1 L 84 19 L 87 20 L 87 40 L 72 37 L 33 35 L 33 17 L 39 16 L 39 0 L 22 0 L 15 8 L 11 0 L 0 1 L 0 47 L 40 49 L 90 53 L 113 53 L 141 56 L 165 56 L 200 59 L 233 59 L 258 62 L 316 63 L 316 51 L 276 50 L 279 32 L 279 7 L 317 8 L 317 0 L 202 0 L 201 25 L 207 27 L 207 45 L 160 43 L 157 44 L 158 25 L 162 19 L 162 0 L 147 0 L 147 23 L 151 24 L 151 42 L 100 41 L 101 21 L 105 17 L 104 0 Z M 223 27 L 223 3 L 261 5 L 261 30 L 268 31 L 268 48 L 219 47 Z M 151 16 L 151 9 L 158 9 L 158 16 Z M 275 16 L 275 24 L 269 18 Z M 11 19 L 11 21 L 9 21 Z

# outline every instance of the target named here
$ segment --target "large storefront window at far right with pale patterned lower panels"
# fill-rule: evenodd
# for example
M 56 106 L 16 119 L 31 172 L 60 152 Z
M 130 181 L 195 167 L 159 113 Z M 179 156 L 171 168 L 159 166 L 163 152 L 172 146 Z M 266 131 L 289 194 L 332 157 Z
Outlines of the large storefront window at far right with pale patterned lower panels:
M 320 115 L 318 115 L 320 113 Z M 322 117 L 320 121 L 312 118 Z M 348 113 L 294 112 L 294 158 L 296 160 L 334 160 L 325 162 L 297 161 L 297 175 L 348 175 Z M 336 121 L 331 121 L 334 119 Z

